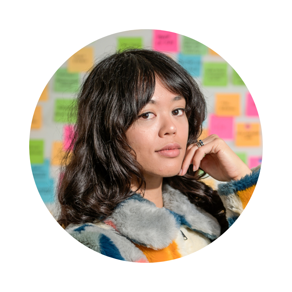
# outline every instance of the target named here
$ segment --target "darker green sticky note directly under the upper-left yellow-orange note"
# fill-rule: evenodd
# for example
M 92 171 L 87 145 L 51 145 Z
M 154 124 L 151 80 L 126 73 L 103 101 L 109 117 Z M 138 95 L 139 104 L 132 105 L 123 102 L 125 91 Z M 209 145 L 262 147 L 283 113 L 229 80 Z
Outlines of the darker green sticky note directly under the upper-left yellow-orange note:
M 54 91 L 74 93 L 79 90 L 80 73 L 69 73 L 66 68 L 59 68 L 55 73 Z

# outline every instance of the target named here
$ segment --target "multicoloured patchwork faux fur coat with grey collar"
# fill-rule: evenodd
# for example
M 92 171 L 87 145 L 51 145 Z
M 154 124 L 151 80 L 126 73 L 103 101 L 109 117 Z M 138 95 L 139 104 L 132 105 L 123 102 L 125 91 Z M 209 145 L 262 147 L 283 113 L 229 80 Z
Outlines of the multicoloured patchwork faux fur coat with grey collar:
M 241 180 L 218 185 L 229 227 L 250 200 L 260 166 Z M 102 255 L 128 262 L 155 263 L 194 253 L 220 236 L 220 225 L 209 213 L 190 203 L 178 190 L 164 185 L 163 208 L 135 194 L 100 223 L 69 225 L 74 239 Z

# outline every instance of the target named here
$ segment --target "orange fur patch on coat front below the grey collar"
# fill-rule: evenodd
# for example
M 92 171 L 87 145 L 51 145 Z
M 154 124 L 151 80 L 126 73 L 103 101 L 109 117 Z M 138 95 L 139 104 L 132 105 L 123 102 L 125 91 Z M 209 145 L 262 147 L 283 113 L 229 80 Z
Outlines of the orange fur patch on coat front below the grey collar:
M 146 256 L 149 263 L 166 262 L 168 260 L 175 260 L 181 258 L 181 254 L 178 252 L 178 245 L 173 241 L 168 247 L 160 249 L 158 251 L 135 244 Z

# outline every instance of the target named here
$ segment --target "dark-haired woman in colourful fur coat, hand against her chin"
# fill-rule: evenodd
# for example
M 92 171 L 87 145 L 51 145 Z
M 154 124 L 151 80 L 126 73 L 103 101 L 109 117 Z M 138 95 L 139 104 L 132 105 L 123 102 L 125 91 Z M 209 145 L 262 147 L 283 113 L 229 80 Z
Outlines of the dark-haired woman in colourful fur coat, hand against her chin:
M 145 263 L 186 256 L 225 232 L 251 198 L 260 166 L 251 171 L 217 135 L 197 142 L 204 96 L 163 53 L 99 62 L 77 112 L 59 223 L 98 253 Z M 205 173 L 227 183 L 214 191 Z

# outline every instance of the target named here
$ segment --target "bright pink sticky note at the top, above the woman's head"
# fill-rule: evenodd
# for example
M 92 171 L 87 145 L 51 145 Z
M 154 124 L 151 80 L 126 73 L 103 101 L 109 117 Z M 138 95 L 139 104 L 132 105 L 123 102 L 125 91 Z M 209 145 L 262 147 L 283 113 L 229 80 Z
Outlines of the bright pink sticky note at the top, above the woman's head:
M 153 30 L 153 48 L 163 52 L 178 51 L 178 34 L 166 30 Z

